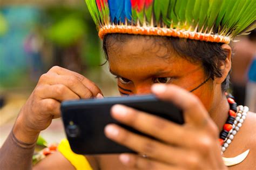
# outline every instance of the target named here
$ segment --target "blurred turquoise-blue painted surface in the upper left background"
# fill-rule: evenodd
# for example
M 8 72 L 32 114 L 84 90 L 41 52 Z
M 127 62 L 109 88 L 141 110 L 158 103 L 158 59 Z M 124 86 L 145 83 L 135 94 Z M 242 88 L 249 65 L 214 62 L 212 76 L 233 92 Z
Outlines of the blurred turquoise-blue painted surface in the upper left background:
M 26 72 L 29 63 L 24 51 L 24 40 L 38 23 L 40 11 L 33 6 L 6 7 L 0 10 L 8 22 L 8 31 L 0 37 L 1 86 L 3 81 L 5 84 L 6 81 L 15 81 L 18 75 Z

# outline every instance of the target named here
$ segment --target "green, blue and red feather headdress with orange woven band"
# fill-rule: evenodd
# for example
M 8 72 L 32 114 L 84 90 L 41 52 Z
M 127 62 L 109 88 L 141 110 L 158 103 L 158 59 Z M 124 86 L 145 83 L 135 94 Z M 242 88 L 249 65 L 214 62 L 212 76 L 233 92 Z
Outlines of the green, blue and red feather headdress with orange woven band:
M 256 0 L 85 0 L 99 37 L 173 36 L 230 43 L 256 28 Z

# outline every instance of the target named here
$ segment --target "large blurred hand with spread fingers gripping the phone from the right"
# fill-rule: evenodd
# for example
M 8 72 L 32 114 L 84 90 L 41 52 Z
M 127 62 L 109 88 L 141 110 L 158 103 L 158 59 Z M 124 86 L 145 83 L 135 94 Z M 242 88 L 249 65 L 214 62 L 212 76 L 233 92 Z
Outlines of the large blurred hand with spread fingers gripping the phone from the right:
M 220 154 L 218 128 L 200 100 L 173 85 L 154 85 L 152 91 L 158 98 L 180 107 L 185 124 L 178 125 L 126 106 L 114 106 L 111 111 L 114 119 L 158 139 L 107 125 L 108 138 L 147 156 L 122 154 L 119 158 L 123 164 L 138 169 L 226 169 Z

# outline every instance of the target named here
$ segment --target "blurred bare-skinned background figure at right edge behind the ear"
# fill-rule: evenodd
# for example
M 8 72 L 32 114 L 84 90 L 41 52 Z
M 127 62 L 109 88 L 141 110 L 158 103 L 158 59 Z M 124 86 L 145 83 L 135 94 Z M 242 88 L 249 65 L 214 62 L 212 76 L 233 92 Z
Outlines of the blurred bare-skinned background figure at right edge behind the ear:
M 251 102 L 251 99 L 249 98 L 256 95 L 255 87 L 250 85 L 250 91 L 247 90 L 247 94 L 251 94 L 251 97 L 246 97 L 246 85 L 248 81 L 250 81 L 248 77 L 248 71 L 253 63 L 253 59 L 255 59 L 256 54 L 255 36 L 256 33 L 254 30 L 248 36 L 241 36 L 239 38 L 239 42 L 233 44 L 235 55 L 233 57 L 233 68 L 231 72 L 232 92 L 234 97 L 237 99 L 237 103 L 240 105 L 248 105 Z M 252 72 L 253 70 L 251 70 L 251 74 Z M 253 107 L 252 104 L 250 104 L 250 106 L 251 108 Z

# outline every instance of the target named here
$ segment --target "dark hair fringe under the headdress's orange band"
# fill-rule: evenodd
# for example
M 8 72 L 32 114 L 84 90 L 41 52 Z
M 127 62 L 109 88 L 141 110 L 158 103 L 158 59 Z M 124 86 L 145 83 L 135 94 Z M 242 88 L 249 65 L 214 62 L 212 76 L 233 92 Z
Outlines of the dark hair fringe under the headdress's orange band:
M 140 35 L 128 35 L 128 34 L 107 34 L 103 40 L 103 50 L 105 52 L 106 60 L 109 59 L 107 55 L 108 49 L 113 43 L 125 43 L 127 40 Z M 185 38 L 176 37 L 160 37 L 156 36 L 145 36 L 148 38 L 154 37 L 154 42 L 159 42 L 161 40 L 161 45 L 166 46 L 167 49 L 172 49 L 178 53 L 178 55 L 185 57 L 187 60 L 193 63 L 199 63 L 203 65 L 206 79 L 219 78 L 222 76 L 222 70 L 220 70 L 220 65 L 225 62 L 228 51 L 225 51 L 221 45 L 223 43 L 211 43 L 203 42 L 199 40 L 191 40 Z M 164 41 L 163 41 L 164 40 Z M 230 85 L 230 73 L 228 73 L 226 79 L 221 84 L 221 89 L 223 92 L 228 90 Z

